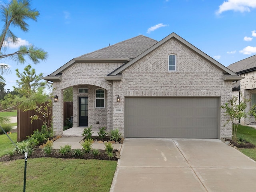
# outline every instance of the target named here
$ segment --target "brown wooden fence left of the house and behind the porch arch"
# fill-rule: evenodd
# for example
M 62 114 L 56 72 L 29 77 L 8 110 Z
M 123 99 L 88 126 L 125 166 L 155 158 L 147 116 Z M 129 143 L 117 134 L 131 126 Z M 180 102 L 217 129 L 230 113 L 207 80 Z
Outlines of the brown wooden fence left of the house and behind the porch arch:
M 52 110 L 52 109 L 51 109 Z M 35 130 L 41 130 L 43 122 L 41 120 L 33 120 L 31 124 L 31 116 L 36 114 L 34 111 L 17 110 L 17 141 L 23 141 L 34 133 Z M 63 125 L 67 118 L 73 116 L 73 102 L 64 102 L 64 119 Z

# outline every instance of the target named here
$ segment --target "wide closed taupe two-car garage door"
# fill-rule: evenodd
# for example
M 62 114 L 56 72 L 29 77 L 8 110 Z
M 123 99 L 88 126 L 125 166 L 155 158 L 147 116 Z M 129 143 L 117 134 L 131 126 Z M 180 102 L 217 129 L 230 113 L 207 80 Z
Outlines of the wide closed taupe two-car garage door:
M 218 138 L 219 98 L 126 97 L 124 136 Z

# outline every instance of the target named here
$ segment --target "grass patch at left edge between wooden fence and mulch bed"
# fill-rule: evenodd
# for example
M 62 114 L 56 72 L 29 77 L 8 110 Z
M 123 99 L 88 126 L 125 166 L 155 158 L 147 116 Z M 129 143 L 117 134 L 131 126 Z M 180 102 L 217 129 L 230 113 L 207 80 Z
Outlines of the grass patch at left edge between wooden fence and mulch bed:
M 8 134 L 8 136 L 13 140 L 14 143 L 16 143 L 17 133 Z M 4 156 L 10 149 L 14 148 L 14 144 L 5 134 L 0 135 L 0 157 Z

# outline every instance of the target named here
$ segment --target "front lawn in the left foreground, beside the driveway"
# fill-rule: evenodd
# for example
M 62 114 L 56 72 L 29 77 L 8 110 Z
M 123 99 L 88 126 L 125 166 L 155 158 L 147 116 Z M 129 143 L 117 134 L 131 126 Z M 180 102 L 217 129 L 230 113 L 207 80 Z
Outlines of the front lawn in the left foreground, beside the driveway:
M 36 158 L 27 162 L 26 191 L 109 192 L 116 161 Z M 22 191 L 24 160 L 0 162 L 1 191 Z

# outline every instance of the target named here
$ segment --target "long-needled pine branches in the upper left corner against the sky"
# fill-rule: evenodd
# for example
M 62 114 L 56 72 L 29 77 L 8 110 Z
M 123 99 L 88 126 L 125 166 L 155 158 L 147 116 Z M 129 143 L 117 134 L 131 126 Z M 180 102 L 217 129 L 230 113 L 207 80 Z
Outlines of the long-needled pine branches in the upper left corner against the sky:
M 32 19 L 37 21 L 39 12 L 30 7 L 29 0 L 12 0 L 8 4 L 2 4 L 0 7 L 1 20 L 4 23 L 0 34 L 0 60 L 2 58 L 10 57 L 17 62 L 24 64 L 27 56 L 34 64 L 45 60 L 47 52 L 35 47 L 34 45 L 20 46 L 18 51 L 10 54 L 3 54 L 2 50 L 8 46 L 8 42 L 17 44 L 18 37 L 10 30 L 11 27 L 19 28 L 24 32 L 28 32 L 28 23 L 26 20 Z M 1 65 L 1 70 L 8 69 L 7 65 Z

